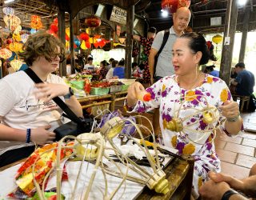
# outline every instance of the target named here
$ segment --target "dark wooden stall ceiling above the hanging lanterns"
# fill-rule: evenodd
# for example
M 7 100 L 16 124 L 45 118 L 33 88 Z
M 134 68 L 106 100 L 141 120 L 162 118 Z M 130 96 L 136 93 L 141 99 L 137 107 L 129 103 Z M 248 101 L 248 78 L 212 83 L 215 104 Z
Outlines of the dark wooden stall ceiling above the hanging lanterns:
M 172 15 L 169 14 L 167 18 L 162 18 L 161 15 L 161 2 L 162 0 L 141 0 L 135 6 L 136 17 L 145 19 L 149 26 L 156 26 L 158 30 L 164 30 L 172 25 Z M 235 0 L 233 0 L 235 2 Z M 139 7 L 139 5 L 144 7 Z M 191 0 L 190 10 L 192 11 L 192 18 L 190 26 L 203 33 L 207 32 L 220 32 L 223 30 L 223 24 L 226 18 L 226 5 L 227 0 Z M 10 6 L 14 8 L 15 14 L 21 18 L 22 26 L 30 27 L 31 15 L 38 15 L 42 18 L 42 23 L 47 29 L 50 22 L 57 16 L 58 9 L 56 6 L 48 7 L 40 0 L 15 0 L 9 4 L 5 4 L 4 0 L 0 2 L 0 22 L 1 26 L 6 25 L 3 22 L 2 8 Z M 256 29 L 256 0 L 247 0 L 247 6 L 251 7 L 250 11 L 250 26 L 249 30 Z M 138 9 L 138 7 L 140 9 Z M 238 30 L 242 27 L 242 14 L 243 8 L 238 10 Z M 66 21 L 69 15 L 66 14 Z M 222 26 L 210 26 L 210 18 L 222 17 Z

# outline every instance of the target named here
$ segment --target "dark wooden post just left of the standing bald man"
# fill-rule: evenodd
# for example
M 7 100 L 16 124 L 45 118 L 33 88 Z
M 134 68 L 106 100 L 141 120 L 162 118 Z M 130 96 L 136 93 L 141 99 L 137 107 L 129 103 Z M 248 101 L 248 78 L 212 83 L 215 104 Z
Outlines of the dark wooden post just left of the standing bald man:
M 126 18 L 126 78 L 131 77 L 131 54 L 133 49 L 132 35 L 134 34 L 134 6 L 130 6 L 127 10 Z

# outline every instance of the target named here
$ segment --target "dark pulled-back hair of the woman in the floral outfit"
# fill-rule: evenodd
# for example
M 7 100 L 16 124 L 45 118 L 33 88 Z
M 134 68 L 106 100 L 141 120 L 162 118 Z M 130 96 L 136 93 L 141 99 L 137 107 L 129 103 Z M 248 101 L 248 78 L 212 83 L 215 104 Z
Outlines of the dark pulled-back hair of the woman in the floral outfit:
M 204 65 L 209 61 L 209 50 L 206 45 L 206 39 L 202 36 L 202 34 L 191 32 L 182 34 L 181 38 L 190 39 L 189 47 L 194 53 L 198 51 L 202 52 L 202 58 L 199 62 L 199 65 Z

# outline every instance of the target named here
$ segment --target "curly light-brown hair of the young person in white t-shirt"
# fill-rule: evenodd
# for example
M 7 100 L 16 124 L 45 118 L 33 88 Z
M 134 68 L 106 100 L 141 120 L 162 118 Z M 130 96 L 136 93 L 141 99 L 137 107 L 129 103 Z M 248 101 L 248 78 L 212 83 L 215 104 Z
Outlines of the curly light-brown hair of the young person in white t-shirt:
M 18 55 L 26 62 L 27 66 L 32 66 L 33 62 L 40 56 L 46 58 L 48 62 L 52 62 L 52 59 L 57 56 L 60 58 L 60 62 L 66 58 L 65 46 L 58 38 L 46 33 L 46 31 L 30 34 L 22 49 L 23 52 Z

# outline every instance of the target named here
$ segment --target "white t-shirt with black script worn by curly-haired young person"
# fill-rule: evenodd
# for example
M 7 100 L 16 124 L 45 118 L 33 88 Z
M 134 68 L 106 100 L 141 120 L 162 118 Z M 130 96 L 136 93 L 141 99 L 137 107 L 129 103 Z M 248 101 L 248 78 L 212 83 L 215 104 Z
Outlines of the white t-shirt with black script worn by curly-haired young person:
M 49 74 L 46 82 L 66 85 L 62 78 L 54 74 Z M 54 130 L 62 125 L 62 110 L 53 100 L 45 103 L 36 99 L 33 94 L 34 84 L 34 81 L 24 71 L 7 75 L 0 80 L 0 116 L 3 116 L 3 124 L 22 130 L 49 124 L 50 130 Z M 64 100 L 63 97 L 61 98 Z M 0 154 L 6 150 L 28 145 L 33 144 L 0 141 Z

